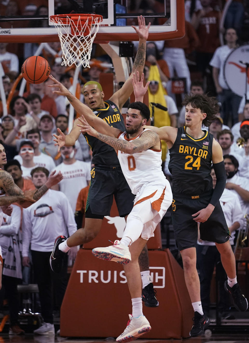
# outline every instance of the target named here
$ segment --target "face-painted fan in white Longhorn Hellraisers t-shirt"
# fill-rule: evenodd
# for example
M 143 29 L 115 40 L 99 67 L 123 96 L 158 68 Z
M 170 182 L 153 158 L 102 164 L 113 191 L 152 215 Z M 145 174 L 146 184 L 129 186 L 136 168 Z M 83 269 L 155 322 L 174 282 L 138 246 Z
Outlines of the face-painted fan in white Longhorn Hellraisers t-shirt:
M 72 205 L 73 211 L 75 211 L 80 190 L 90 184 L 91 163 L 78 161 L 75 158 L 76 149 L 74 146 L 62 146 L 60 151 L 63 162 L 54 170 L 60 170 L 63 179 L 53 189 L 62 191 Z

